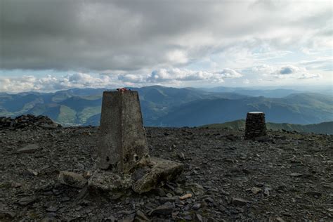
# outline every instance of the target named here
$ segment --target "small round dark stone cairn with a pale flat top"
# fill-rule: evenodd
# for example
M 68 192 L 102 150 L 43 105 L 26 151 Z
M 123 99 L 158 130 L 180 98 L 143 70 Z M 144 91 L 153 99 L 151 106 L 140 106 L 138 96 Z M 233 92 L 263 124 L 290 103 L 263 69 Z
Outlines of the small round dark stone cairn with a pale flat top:
M 247 112 L 245 123 L 245 140 L 255 140 L 267 136 L 265 114 L 263 112 Z

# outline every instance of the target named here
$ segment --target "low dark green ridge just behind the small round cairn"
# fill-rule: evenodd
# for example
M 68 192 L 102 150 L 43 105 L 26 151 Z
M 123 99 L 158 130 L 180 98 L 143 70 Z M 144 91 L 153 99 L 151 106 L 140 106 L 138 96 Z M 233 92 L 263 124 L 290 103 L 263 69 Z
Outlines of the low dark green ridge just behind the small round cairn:
M 239 119 L 232 122 L 225 122 L 223 124 L 208 124 L 202 127 L 209 128 L 228 128 L 228 129 L 245 129 L 245 120 Z M 333 135 L 333 122 L 322 122 L 320 124 L 277 124 L 268 122 L 266 123 L 267 129 L 272 130 L 286 130 L 286 131 L 298 131 L 303 133 L 322 133 Z

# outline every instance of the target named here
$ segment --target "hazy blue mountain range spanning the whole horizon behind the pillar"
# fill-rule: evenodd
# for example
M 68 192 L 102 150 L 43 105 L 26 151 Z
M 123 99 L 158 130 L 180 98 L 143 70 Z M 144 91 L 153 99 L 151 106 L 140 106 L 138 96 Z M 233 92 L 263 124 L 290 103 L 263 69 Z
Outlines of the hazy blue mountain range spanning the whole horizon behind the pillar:
M 146 126 L 201 126 L 230 122 L 244 119 L 247 112 L 256 110 L 265 112 L 268 122 L 318 124 L 333 121 L 331 96 L 285 90 L 282 98 L 267 98 L 262 95 L 276 95 L 282 91 L 230 89 L 131 88 L 139 93 Z M 0 116 L 30 113 L 46 115 L 64 126 L 98 125 L 102 93 L 106 90 L 110 89 L 0 93 Z M 259 96 L 251 96 L 253 94 Z

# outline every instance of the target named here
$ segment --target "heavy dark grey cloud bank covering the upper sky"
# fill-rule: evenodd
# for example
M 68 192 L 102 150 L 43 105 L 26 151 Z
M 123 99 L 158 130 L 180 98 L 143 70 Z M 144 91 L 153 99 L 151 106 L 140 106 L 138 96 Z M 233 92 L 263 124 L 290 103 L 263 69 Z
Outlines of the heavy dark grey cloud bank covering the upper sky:
M 308 29 L 308 11 L 295 20 L 289 1 L 255 2 L 2 0 L 0 70 L 182 67 L 230 46 L 294 44 Z M 329 20 L 321 13 L 311 14 L 316 33 Z M 300 31 L 283 30 L 291 21 Z

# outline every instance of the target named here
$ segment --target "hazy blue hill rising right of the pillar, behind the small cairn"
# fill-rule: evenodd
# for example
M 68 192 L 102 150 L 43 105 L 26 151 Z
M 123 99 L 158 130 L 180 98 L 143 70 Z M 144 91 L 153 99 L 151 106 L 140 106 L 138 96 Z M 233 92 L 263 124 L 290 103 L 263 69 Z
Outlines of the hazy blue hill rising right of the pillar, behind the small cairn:
M 285 98 L 249 97 L 195 100 L 157 119 L 157 126 L 201 126 L 244 119 L 247 112 L 263 111 L 268 122 L 316 124 L 332 121 L 333 99 L 315 93 L 292 94 Z

